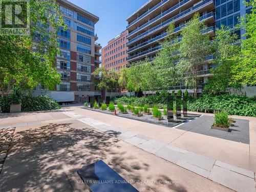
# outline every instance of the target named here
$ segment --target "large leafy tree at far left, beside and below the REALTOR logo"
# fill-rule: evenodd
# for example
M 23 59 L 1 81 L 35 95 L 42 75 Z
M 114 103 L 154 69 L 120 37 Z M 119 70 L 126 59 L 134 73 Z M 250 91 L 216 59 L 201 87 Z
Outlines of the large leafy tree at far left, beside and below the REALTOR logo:
M 55 0 L 30 1 L 30 35 L 0 35 L 0 91 L 53 89 L 60 82 L 54 66 L 59 51 L 57 31 L 63 26 Z M 51 28 L 51 30 L 49 30 Z

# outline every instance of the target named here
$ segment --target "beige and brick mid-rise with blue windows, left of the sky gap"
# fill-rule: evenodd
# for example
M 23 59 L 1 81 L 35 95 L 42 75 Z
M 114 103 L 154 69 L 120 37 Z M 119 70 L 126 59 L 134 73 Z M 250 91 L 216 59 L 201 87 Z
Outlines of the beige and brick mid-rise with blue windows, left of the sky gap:
M 61 53 L 56 57 L 56 67 L 62 82 L 56 91 L 72 91 L 75 102 L 90 102 L 90 97 L 101 95 L 95 91 L 91 75 L 101 62 L 101 46 L 95 42 L 98 37 L 94 28 L 99 17 L 69 1 L 57 2 L 68 29 L 58 31 Z

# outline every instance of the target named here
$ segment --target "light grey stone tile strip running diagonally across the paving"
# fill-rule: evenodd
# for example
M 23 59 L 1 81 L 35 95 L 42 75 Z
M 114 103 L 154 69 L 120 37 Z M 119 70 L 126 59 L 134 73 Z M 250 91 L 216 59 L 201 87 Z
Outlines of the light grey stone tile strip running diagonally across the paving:
M 255 173 L 250 170 L 183 150 L 172 144 L 86 118 L 74 112 L 62 113 L 228 188 L 236 191 L 255 191 Z

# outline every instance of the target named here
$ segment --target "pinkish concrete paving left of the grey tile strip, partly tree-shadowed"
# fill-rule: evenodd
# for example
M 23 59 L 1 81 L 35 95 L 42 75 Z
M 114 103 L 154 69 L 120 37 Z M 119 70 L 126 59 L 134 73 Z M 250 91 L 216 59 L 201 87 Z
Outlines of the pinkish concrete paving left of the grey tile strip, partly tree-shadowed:
M 47 117 L 50 120 L 46 123 Z M 0 175 L 1 191 L 89 191 L 76 172 L 99 159 L 124 179 L 137 181 L 132 185 L 139 191 L 231 191 L 110 134 L 97 131 L 76 120 L 79 117 L 82 118 L 79 115 L 70 118 L 60 112 L 0 116 L 1 126 L 17 124 L 18 120 L 27 123 L 16 127 Z

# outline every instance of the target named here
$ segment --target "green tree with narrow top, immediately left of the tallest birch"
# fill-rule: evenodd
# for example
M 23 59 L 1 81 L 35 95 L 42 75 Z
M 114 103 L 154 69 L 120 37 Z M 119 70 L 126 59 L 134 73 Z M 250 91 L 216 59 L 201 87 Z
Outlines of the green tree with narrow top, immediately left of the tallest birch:
M 159 87 L 167 90 L 179 83 L 179 74 L 176 69 L 176 63 L 179 59 L 177 49 L 179 47 L 179 38 L 174 34 L 175 25 L 172 23 L 168 26 L 167 37 L 161 42 L 162 49 L 157 52 L 154 58 L 154 69 L 157 73 L 157 83 Z

